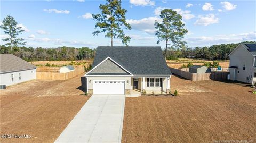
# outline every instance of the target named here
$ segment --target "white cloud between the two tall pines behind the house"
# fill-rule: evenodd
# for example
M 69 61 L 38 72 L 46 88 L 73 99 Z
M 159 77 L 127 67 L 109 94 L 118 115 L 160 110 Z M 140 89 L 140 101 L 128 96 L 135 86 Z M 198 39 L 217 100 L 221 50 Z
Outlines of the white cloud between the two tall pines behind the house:
M 161 22 L 162 19 L 155 16 L 140 20 L 127 19 L 126 21 L 131 24 L 132 29 L 152 34 L 156 31 L 154 26 L 155 21 Z

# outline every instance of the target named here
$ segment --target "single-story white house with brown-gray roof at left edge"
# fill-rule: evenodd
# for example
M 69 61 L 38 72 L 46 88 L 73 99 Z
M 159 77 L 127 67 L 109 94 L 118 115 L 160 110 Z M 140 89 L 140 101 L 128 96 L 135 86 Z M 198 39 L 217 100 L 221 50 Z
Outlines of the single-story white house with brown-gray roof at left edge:
M 0 85 L 36 79 L 36 66 L 11 54 L 0 54 Z

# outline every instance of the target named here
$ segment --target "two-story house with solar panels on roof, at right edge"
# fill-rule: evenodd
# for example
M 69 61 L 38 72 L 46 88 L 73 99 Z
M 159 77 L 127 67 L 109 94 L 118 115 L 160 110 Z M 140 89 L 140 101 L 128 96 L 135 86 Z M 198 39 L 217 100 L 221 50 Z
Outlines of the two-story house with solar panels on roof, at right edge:
M 230 80 L 256 82 L 256 44 L 239 44 L 230 54 Z

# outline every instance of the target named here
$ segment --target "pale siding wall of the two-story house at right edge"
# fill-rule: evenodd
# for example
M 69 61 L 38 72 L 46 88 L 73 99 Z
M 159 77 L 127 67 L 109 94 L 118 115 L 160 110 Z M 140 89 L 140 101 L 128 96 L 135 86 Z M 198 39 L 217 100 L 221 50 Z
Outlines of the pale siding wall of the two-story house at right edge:
M 247 77 L 249 77 L 251 80 L 248 81 L 248 83 L 252 83 L 253 60 L 253 55 L 247 51 L 247 49 L 245 49 L 242 45 L 237 47 L 237 49 L 230 55 L 229 63 L 229 66 L 238 67 L 235 73 L 235 80 L 247 82 Z M 243 70 L 243 63 L 246 63 L 245 70 Z M 230 73 L 231 79 L 233 79 L 233 74 L 234 73 Z

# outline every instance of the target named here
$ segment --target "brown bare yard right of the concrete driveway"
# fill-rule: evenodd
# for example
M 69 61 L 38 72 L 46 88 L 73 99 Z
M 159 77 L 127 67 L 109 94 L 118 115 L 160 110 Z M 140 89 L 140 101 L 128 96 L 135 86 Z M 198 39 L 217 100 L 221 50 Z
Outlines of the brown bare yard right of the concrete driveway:
M 256 142 L 253 88 L 173 76 L 171 90 L 179 96 L 126 98 L 122 142 Z

